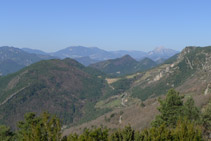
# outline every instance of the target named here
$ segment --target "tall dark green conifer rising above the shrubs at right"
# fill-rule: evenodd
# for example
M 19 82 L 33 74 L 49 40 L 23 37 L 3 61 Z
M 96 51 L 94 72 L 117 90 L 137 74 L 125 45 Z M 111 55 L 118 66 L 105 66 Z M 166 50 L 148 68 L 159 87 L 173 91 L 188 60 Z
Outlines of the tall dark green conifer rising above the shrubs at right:
M 200 122 L 200 112 L 194 105 L 194 100 L 190 97 L 183 102 L 183 96 L 180 96 L 174 89 L 170 89 L 164 100 L 159 99 L 160 115 L 152 122 L 154 127 L 165 124 L 169 127 L 175 127 L 176 122 L 186 118 L 192 122 Z

